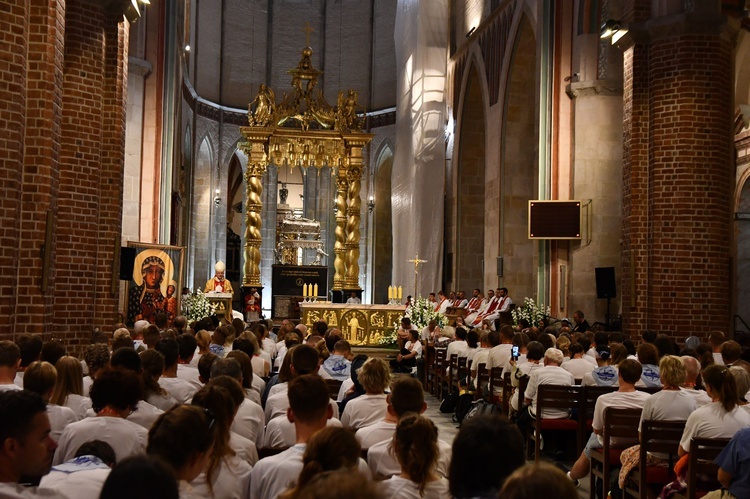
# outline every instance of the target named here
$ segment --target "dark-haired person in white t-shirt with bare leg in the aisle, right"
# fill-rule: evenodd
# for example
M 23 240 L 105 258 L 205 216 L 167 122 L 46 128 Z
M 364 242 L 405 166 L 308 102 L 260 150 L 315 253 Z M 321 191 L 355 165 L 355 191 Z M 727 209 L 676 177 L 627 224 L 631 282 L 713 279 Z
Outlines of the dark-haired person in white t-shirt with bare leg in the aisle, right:
M 604 445 L 602 430 L 604 429 L 604 410 L 607 407 L 617 407 L 619 409 L 642 409 L 643 404 L 650 395 L 646 392 L 637 391 L 635 384 L 641 379 L 641 364 L 637 360 L 626 359 L 620 363 L 618 369 L 619 388 L 616 392 L 606 393 L 596 400 L 594 406 L 594 421 L 592 423 L 593 433 L 586 447 L 583 449 L 578 460 L 568 472 L 568 477 L 573 480 L 580 480 L 588 475 L 591 468 L 591 450 L 600 449 Z M 611 442 L 613 445 L 624 446 L 627 442 Z

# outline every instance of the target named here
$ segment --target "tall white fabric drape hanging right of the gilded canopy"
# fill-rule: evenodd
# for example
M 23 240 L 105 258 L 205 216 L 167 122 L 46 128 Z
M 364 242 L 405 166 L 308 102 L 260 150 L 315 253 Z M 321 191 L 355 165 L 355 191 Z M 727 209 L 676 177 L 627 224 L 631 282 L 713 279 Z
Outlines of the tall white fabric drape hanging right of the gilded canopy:
M 414 295 L 438 291 L 443 259 L 448 0 L 399 0 L 396 14 L 396 151 L 393 162 L 393 282 Z

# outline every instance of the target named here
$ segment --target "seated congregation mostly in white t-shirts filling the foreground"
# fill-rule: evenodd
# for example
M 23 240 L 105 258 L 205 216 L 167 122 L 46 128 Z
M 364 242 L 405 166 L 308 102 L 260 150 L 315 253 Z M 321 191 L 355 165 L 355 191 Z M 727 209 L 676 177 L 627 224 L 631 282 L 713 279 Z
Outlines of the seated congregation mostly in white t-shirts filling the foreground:
M 423 380 L 353 355 L 337 328 L 283 321 L 274 332 L 270 321 L 213 319 L 118 324 L 95 331 L 81 359 L 38 335 L 0 341 L 0 497 L 572 499 L 603 444 L 607 407 L 686 421 L 679 456 L 691 438 L 731 438 L 719 479 L 727 494 L 750 497 L 750 364 L 747 349 L 718 332 L 680 347 L 644 332 L 636 347 L 621 333 L 565 324 L 418 331 L 406 319 L 395 371 L 409 356 L 407 372 L 429 367 L 429 346 L 465 357 L 473 387 L 493 367 L 526 378 L 524 395 L 516 388 L 508 401 L 513 422 L 472 417 L 449 442 L 423 415 Z M 538 415 L 545 384 L 612 387 L 598 398 L 593 433 L 567 476 L 526 464 L 535 418 L 577 416 Z M 501 402 L 502 393 L 484 389 Z M 621 486 L 638 456 L 637 447 L 623 452 Z M 680 485 L 679 477 L 671 484 Z

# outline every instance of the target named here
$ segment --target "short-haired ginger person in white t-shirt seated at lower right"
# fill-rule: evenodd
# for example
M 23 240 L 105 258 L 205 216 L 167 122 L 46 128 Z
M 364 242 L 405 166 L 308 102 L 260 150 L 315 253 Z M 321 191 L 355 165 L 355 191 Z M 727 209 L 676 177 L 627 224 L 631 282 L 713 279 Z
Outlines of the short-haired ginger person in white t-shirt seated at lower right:
M 646 345 L 648 343 L 645 343 Z M 659 421 L 686 421 L 688 417 L 698 408 L 695 397 L 681 390 L 680 386 L 687 378 L 685 364 L 680 357 L 667 355 L 659 362 L 659 375 L 661 391 L 651 395 L 643 404 L 641 413 L 641 425 L 647 420 Z M 643 379 L 643 376 L 641 376 Z M 640 439 L 640 425 L 638 427 Z M 620 468 L 620 488 L 625 484 L 628 474 L 639 464 L 640 445 L 635 445 L 623 451 L 620 456 L 622 468 Z M 660 466 L 666 463 L 667 455 L 648 455 L 647 466 Z

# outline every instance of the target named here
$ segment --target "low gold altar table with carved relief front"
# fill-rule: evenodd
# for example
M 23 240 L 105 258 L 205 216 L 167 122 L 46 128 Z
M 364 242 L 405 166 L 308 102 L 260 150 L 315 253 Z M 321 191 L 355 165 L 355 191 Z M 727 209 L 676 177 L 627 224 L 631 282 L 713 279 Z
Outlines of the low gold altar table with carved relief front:
M 348 305 L 341 303 L 300 303 L 300 323 L 307 327 L 320 320 L 341 329 L 341 336 L 352 345 L 377 345 L 378 340 L 398 327 L 404 316 L 403 305 Z

